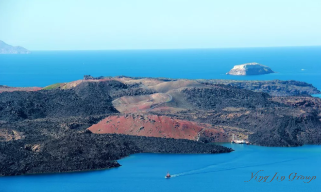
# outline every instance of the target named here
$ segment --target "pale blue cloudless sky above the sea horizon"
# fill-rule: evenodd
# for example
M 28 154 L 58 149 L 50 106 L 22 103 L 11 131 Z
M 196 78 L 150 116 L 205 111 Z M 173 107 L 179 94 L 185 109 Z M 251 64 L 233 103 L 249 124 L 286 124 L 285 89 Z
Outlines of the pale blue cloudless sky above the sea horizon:
M 321 0 L 0 0 L 0 40 L 30 50 L 321 45 Z

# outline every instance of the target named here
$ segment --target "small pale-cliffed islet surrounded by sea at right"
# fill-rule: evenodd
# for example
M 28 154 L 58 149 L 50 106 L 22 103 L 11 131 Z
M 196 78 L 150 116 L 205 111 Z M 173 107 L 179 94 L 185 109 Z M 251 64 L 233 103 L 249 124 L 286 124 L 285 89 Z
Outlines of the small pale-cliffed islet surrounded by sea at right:
M 226 75 L 264 75 L 274 73 L 270 67 L 258 63 L 239 64 L 226 73 Z

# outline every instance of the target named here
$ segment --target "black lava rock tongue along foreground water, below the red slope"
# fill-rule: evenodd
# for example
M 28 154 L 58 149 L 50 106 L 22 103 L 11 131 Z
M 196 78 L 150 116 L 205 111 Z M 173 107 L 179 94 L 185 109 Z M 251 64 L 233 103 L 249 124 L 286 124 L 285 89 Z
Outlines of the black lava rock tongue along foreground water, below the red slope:
M 27 136 L 28 137 L 28 136 Z M 58 173 L 121 166 L 134 153 L 222 153 L 232 149 L 190 140 L 68 131 L 58 139 L 0 142 L 0 176 Z

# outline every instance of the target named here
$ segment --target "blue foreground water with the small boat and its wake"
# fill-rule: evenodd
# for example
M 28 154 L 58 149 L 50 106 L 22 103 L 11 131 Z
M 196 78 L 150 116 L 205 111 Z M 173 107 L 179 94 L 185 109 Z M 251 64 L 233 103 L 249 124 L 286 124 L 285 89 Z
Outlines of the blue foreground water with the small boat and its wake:
M 119 160 L 121 167 L 109 170 L 0 177 L 0 192 L 317 192 L 321 189 L 321 146 L 224 145 L 235 151 L 214 155 L 135 154 Z M 180 176 L 166 179 L 167 170 Z M 244 182 L 251 178 L 251 172 L 259 170 L 264 170 L 259 176 L 272 177 L 278 172 L 286 178 L 282 182 Z M 317 178 L 310 183 L 288 181 L 293 172 Z

